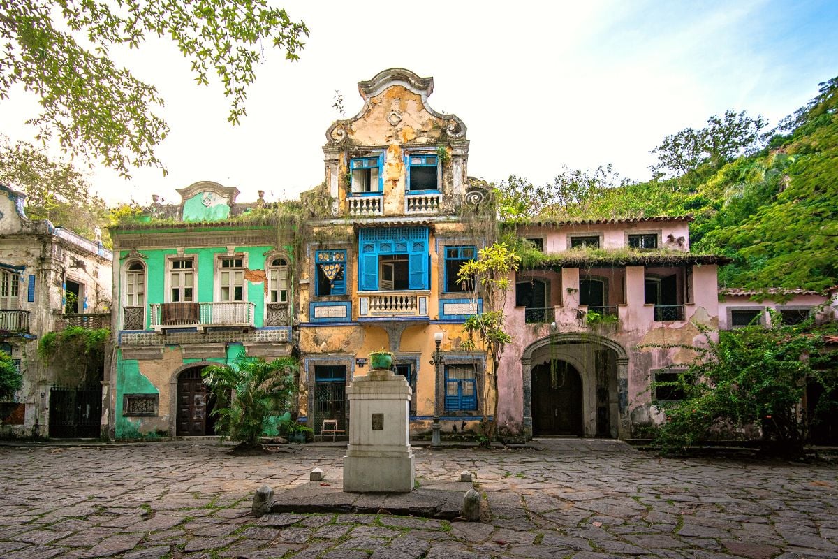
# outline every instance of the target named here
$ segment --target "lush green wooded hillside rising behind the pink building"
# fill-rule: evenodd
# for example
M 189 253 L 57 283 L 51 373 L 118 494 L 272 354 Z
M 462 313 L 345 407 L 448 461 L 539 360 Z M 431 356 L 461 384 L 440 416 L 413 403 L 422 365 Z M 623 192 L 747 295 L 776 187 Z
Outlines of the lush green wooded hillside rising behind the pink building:
M 654 148 L 655 178 L 620 179 L 610 166 L 567 168 L 553 184 L 498 185 L 502 218 L 601 219 L 693 215 L 691 250 L 727 256 L 727 287 L 838 283 L 838 77 L 768 134 L 745 112 L 711 116 Z

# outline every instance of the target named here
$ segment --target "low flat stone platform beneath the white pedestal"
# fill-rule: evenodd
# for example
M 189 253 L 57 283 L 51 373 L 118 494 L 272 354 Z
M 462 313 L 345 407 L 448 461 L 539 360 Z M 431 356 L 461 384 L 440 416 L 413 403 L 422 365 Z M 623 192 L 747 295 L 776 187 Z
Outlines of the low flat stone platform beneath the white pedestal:
M 301 484 L 274 493 L 272 513 L 354 513 L 421 516 L 452 520 L 460 515 L 463 497 L 472 484 L 455 482 L 444 489 L 419 488 L 410 493 L 347 493 L 339 484 Z

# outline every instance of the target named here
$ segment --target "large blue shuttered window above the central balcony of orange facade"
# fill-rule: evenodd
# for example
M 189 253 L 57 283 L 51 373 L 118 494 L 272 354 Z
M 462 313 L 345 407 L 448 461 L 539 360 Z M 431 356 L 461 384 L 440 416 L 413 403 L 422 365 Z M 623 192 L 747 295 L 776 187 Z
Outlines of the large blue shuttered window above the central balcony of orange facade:
M 427 289 L 427 227 L 361 229 L 358 233 L 360 291 Z

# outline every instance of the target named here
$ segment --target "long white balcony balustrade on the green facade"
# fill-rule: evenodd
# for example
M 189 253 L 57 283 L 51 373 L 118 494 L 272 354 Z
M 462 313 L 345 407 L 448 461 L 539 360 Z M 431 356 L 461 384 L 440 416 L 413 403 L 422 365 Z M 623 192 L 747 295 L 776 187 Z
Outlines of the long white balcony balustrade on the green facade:
M 249 301 L 212 303 L 158 303 L 151 305 L 152 328 L 254 328 L 256 304 Z

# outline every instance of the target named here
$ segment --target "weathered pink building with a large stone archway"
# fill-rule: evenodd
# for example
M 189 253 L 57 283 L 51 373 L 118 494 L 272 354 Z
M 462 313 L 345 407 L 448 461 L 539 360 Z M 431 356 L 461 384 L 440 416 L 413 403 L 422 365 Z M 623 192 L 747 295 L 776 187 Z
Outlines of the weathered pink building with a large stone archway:
M 650 383 L 694 354 L 651 346 L 702 344 L 696 325 L 720 324 L 719 259 L 690 253 L 688 224 L 647 218 L 516 230 L 541 239 L 546 263 L 517 272 L 507 295 L 513 341 L 498 377 L 502 430 L 629 438 L 660 421 Z M 596 237 L 604 251 L 569 250 L 577 237 Z

